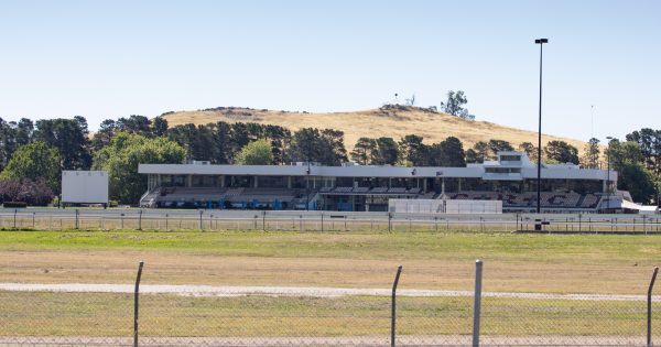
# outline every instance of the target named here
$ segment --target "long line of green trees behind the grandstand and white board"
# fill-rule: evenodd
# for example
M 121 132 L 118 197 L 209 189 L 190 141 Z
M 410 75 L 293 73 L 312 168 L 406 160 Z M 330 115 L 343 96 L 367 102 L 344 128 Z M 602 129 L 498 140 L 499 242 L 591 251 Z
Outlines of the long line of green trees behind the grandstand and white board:
M 39 195 L 30 193 L 37 187 L 47 187 L 50 194 L 57 195 L 62 170 L 94 169 L 110 172 L 112 199 L 134 203 L 147 188 L 147 177 L 137 173 L 138 163 L 197 160 L 214 164 L 315 162 L 339 165 L 351 160 L 364 165 L 465 166 L 494 160 L 499 151 L 513 150 L 528 153 L 533 162 L 538 158 L 538 149 L 531 142 L 512 144 L 491 139 L 465 149 L 455 137 L 436 143 L 423 140 L 416 134 L 401 139 L 360 138 L 349 152 L 344 132 L 335 129 L 291 131 L 273 124 L 223 121 L 169 127 L 163 117 L 130 116 L 104 120 L 91 134 L 86 119 L 80 116 L 35 122 L 26 118 L 8 122 L 0 118 L 0 181 L 14 182 L 0 184 L 0 198 L 25 200 Z M 620 171 L 619 187 L 631 191 L 638 200 L 649 202 L 659 187 L 661 130 L 641 129 L 628 134 L 626 140 L 611 140 L 609 150 L 602 153 L 599 141 L 590 139 L 582 158 L 575 147 L 550 141 L 543 148 L 543 160 L 605 169 L 607 154 L 611 167 Z M 24 188 L 18 187 L 22 185 Z M 44 198 L 32 199 L 36 200 L 42 203 Z

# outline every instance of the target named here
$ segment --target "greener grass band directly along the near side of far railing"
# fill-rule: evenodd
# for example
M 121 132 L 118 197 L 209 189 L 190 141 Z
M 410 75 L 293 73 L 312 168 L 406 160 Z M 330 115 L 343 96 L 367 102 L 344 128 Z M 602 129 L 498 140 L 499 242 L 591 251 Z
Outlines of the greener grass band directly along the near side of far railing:
M 1 231 L 0 251 L 144 250 L 214 256 L 651 264 L 661 237 L 502 232 Z

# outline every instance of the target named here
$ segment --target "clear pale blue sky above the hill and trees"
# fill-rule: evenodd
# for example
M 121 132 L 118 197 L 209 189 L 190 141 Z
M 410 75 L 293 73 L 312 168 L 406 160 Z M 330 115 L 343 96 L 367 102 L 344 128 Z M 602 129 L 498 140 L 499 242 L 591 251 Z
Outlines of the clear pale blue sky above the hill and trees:
M 464 90 L 579 140 L 661 129 L 661 1 L 0 0 L 0 117 L 377 108 Z M 319 124 L 323 127 L 323 124 Z M 449 135 L 449 134 L 448 134 Z

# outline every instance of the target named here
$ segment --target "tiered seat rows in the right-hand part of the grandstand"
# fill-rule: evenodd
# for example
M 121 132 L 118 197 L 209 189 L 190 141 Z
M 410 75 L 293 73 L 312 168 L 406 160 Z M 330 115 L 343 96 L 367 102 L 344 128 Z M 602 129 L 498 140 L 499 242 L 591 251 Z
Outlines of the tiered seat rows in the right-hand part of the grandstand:
M 446 194 L 451 199 L 502 200 L 503 207 L 527 208 L 537 204 L 537 193 L 497 193 L 497 192 L 459 192 Z M 596 208 L 599 195 L 542 192 L 540 194 L 544 208 Z

